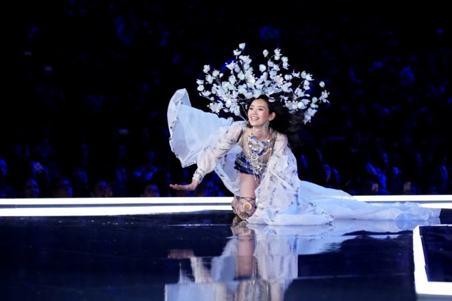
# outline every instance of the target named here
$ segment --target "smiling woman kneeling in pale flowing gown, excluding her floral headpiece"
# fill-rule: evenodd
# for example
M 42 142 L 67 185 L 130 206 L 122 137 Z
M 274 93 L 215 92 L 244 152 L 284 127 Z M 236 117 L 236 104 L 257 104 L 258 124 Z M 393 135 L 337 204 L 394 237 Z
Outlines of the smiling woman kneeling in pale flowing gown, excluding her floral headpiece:
M 281 108 L 284 108 L 281 103 L 271 103 L 267 96 L 259 96 L 251 101 L 248 122 L 225 120 L 191 107 L 186 90 L 178 90 L 168 107 L 170 142 L 182 166 L 189 166 L 194 160 L 197 170 L 192 183 L 171 184 L 170 187 L 193 191 L 205 174 L 215 171 L 234 194 L 234 212 L 251 224 L 314 225 L 331 222 L 334 218 L 438 218 L 438 209 L 427 209 L 415 203 L 371 205 L 355 200 L 342 190 L 300 181 L 297 161 L 290 149 L 290 142 L 295 141 L 289 139 L 294 137 L 291 135 L 294 129 L 286 128 L 288 134 L 284 134 L 280 132 L 285 131 L 284 128 L 280 131 L 273 128 L 273 124 L 277 127 L 285 120 L 292 124 L 296 119 L 281 114 L 284 112 Z M 278 110 L 280 114 L 277 114 Z M 197 114 L 199 116 L 195 118 Z M 190 126 L 188 120 L 197 122 Z M 227 122 L 229 125 L 225 125 Z M 190 132 L 196 133 L 197 137 L 188 138 Z M 185 144 L 185 139 L 190 142 Z M 257 155 L 254 155 L 254 161 L 249 159 L 253 154 Z M 248 203 L 252 208 L 247 210 L 244 205 Z M 243 212 L 249 217 L 240 215 Z

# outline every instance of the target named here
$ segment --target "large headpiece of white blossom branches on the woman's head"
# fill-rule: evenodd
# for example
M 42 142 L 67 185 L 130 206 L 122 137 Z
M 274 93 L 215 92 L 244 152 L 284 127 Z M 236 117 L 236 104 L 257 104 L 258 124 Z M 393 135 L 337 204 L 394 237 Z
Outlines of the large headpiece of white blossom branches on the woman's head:
M 288 57 L 282 56 L 279 49 L 275 49 L 271 57 L 268 57 L 268 51 L 263 51 L 264 57 L 268 57 L 267 63 L 259 65 L 260 75 L 256 76 L 249 55 L 243 54 L 244 47 L 245 43 L 239 44 L 239 49 L 234 50 L 236 60 L 225 63 L 231 71 L 227 80 L 222 80 L 223 73 L 219 70 L 211 73 L 209 65 L 203 68 L 205 80 L 197 80 L 199 95 L 211 101 L 209 107 L 212 112 L 219 114 L 223 110 L 246 120 L 242 111 L 246 112 L 247 101 L 265 94 L 269 101 L 283 101 L 291 113 L 303 111 L 304 123 L 307 123 L 316 114 L 318 103 L 328 102 L 329 92 L 325 90 L 323 81 L 318 84 L 322 88 L 321 95 L 311 96 L 307 91 L 310 90 L 310 81 L 314 80 L 312 75 L 305 71 L 284 72 L 288 70 Z M 299 82 L 294 89 L 292 81 Z M 210 90 L 206 90 L 205 86 L 210 86 Z M 273 94 L 279 92 L 284 92 L 281 99 L 273 98 Z

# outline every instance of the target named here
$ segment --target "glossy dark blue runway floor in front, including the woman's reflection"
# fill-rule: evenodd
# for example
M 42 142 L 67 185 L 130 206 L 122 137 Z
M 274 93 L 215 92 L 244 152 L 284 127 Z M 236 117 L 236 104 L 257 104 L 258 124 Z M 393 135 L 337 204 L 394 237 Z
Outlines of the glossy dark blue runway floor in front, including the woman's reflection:
M 0 300 L 452 299 L 452 209 L 422 224 L 278 227 L 236 223 L 223 200 L 173 205 L 3 205 Z M 417 280 L 442 286 L 420 294 Z

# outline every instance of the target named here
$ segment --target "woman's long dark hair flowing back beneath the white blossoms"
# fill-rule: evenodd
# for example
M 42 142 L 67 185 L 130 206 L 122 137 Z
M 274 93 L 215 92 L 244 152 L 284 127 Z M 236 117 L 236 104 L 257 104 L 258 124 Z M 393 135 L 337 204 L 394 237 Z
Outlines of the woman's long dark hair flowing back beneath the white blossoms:
M 290 148 L 294 148 L 301 144 L 299 132 L 303 129 L 305 114 L 301 110 L 289 112 L 284 101 L 281 101 L 282 95 L 283 93 L 271 95 L 275 101 L 269 101 L 270 98 L 265 94 L 249 99 L 247 109 L 255 99 L 264 99 L 270 114 L 275 112 L 275 118 L 271 120 L 270 127 L 275 131 L 279 131 L 279 133 L 284 133 L 288 138 Z

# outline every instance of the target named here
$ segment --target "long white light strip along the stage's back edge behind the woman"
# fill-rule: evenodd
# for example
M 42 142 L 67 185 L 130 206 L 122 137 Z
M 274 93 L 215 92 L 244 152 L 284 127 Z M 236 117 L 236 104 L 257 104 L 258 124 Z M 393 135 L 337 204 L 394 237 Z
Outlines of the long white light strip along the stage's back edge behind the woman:
M 423 200 L 423 202 L 419 202 L 423 207 L 452 209 L 452 196 L 449 198 L 444 195 L 425 195 L 418 196 L 418 198 L 415 198 L 414 200 L 412 199 L 413 197 L 414 196 L 356 196 L 356 199 L 366 202 Z M 441 202 L 440 200 L 444 202 Z M 449 202 L 446 202 L 445 200 L 449 200 Z M 184 208 L 184 206 L 187 208 Z M 102 211 L 99 211 L 99 208 L 104 210 L 104 213 L 101 213 Z M 5 198 L 0 202 L 0 216 L 121 215 L 176 213 L 203 210 L 230 211 L 231 197 Z

